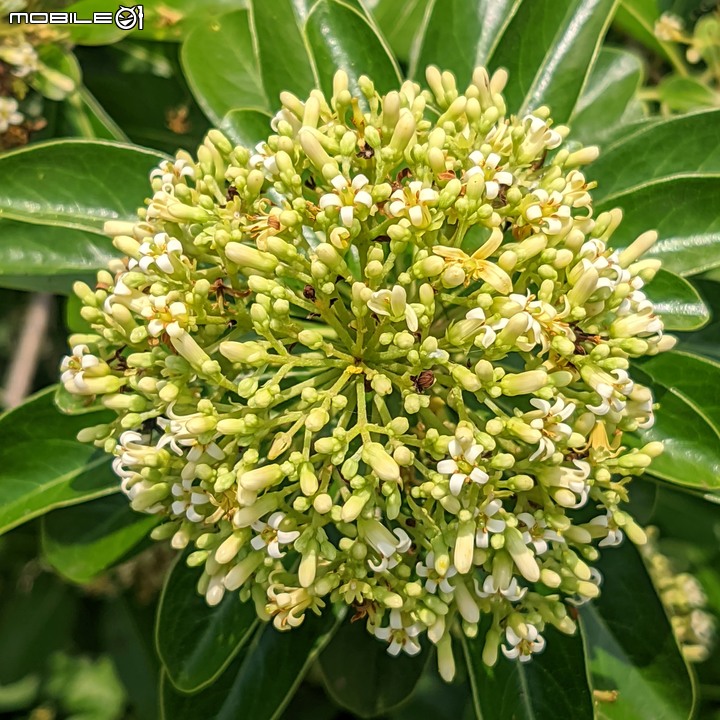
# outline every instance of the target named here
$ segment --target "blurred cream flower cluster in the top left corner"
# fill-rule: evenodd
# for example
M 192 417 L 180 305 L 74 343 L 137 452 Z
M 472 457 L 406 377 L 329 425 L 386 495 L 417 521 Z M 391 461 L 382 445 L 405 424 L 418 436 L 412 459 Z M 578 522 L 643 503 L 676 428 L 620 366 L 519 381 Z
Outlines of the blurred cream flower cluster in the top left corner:
M 41 96 L 62 100 L 75 88 L 52 67 L 62 47 L 53 28 L 7 22 L 25 6 L 25 0 L 0 0 L 0 149 L 24 145 L 45 126 Z

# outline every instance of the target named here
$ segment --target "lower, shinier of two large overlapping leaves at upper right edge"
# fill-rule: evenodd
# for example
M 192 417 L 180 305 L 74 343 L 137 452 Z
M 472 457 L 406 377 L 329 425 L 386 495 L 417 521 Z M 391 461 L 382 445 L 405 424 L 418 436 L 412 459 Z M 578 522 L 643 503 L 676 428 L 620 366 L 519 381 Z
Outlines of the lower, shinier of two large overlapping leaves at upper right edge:
M 720 177 L 661 180 L 616 195 L 596 210 L 623 210 L 623 221 L 611 239 L 614 246 L 626 247 L 654 228 L 660 239 L 645 257 L 660 258 L 665 270 L 676 275 L 695 275 L 720 265 L 718 191 Z

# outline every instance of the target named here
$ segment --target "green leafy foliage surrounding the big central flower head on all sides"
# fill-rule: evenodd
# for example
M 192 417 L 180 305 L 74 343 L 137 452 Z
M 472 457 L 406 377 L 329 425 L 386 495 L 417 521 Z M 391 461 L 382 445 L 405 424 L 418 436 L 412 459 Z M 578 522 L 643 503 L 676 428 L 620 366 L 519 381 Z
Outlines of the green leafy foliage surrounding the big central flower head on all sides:
M 115 7 L 70 9 L 106 5 Z M 604 553 L 605 592 L 582 608 L 581 635 L 552 634 L 532 663 L 502 659 L 492 670 L 478 647 L 458 645 L 465 662 L 449 686 L 429 651 L 391 659 L 347 618 L 326 613 L 279 635 L 236 596 L 209 608 L 182 558 L 150 549 L 155 520 L 116 494 L 107 458 L 75 440 L 87 418 L 60 416 L 48 387 L 65 327 L 83 328 L 66 297 L 72 281 L 113 256 L 103 223 L 134 218 L 167 153 L 193 150 L 211 125 L 254 144 L 281 90 L 327 91 L 337 67 L 351 82 L 372 76 L 380 92 L 404 77 L 422 82 L 428 64 L 459 85 L 478 64 L 505 67 L 510 108 L 549 104 L 571 138 L 600 145 L 588 175 L 598 211 L 625 212 L 614 239 L 660 234 L 652 254 L 664 270 L 649 294 L 681 334 L 676 350 L 636 368 L 661 404 L 643 440 L 665 441 L 666 453 L 633 483 L 633 511 L 659 528 L 663 550 L 701 579 L 720 615 L 716 3 L 152 0 L 145 11 L 145 29 L 129 34 L 69 28 L 74 51 L 53 62 L 73 92 L 45 101 L 34 142 L 0 155 L 0 370 L 26 329 L 29 293 L 55 294 L 39 392 L 0 417 L 0 714 L 720 718 L 720 651 L 688 666 L 628 541 Z M 683 19 L 684 39 L 658 39 L 665 11 Z

